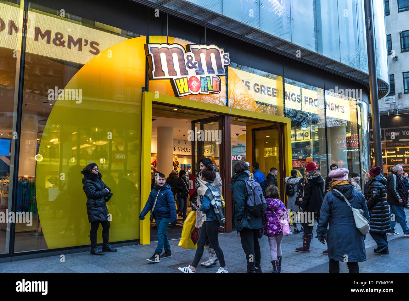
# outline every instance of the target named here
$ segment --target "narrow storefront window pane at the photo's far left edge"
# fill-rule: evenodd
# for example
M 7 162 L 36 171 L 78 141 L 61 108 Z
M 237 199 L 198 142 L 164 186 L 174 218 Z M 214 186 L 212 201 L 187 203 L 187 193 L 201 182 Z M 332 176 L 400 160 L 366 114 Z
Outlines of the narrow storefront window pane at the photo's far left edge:
M 21 58 L 21 35 L 15 33 L 13 25 L 22 21 L 22 15 L 20 1 L 0 1 L 0 254 L 9 252 L 10 222 L 15 222 L 17 229 L 22 225 L 15 219 L 10 220 L 9 214 L 16 172 L 13 161 L 18 138 L 15 130 Z M 12 35 L 7 34 L 9 30 L 13 30 Z M 24 213 L 19 207 L 16 211 Z

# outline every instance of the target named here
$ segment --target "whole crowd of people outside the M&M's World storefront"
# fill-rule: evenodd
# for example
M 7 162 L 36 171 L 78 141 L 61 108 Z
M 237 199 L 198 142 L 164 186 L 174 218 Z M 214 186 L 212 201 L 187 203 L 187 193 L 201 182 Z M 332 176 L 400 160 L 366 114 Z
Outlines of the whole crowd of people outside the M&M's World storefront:
M 245 161 L 238 161 L 233 167 L 234 179 L 229 184 L 233 198 L 234 226 L 240 235 L 248 273 L 262 273 L 259 239 L 263 236 L 267 237 L 270 245 L 273 273 L 281 272 L 283 237 L 303 232 L 302 245 L 295 248 L 294 252 L 310 253 L 314 225 L 317 225 L 315 237 L 319 242 L 327 244 L 328 249 L 323 253 L 328 254 L 330 273 L 339 272 L 340 261 L 346 261 L 350 273 L 359 272 L 358 263 L 366 261 L 364 240 L 368 233 L 377 244 L 373 252 L 378 254 L 389 254 L 387 236 L 399 235 L 395 229 L 397 222 L 402 227 L 403 237 L 409 237 L 405 215 L 409 178 L 407 173 L 404 174 L 402 164 L 394 166 L 387 178 L 380 166 L 371 168 L 364 177 L 362 190 L 360 174 L 350 174 L 348 169 L 332 164 L 324 181 L 317 164 L 309 162 L 303 176 L 293 169 L 290 177 L 284 177 L 287 204 L 285 197 L 280 196 L 277 168 L 272 167 L 265 176 L 257 162 L 252 165 L 253 173 L 250 173 L 250 166 Z M 220 267 L 217 273 L 228 273 L 218 241 L 219 228 L 225 223 L 222 180 L 211 159 L 200 159 L 199 168 L 197 197 L 192 203 L 196 210 L 195 226 L 198 229 L 196 254 L 190 265 L 180 267 L 179 270 L 196 273 L 206 247 L 209 259 L 200 265 L 210 267 L 218 261 Z M 109 200 L 112 193 L 102 182 L 97 164 L 86 166 L 82 173 L 91 222 L 91 254 L 103 255 L 96 244 L 99 223 L 103 226 L 103 251 L 116 252 L 108 245 L 110 224 L 105 219 L 108 215 L 107 207 L 100 206 L 102 201 L 105 203 Z M 180 171 L 179 175 L 172 172 L 167 179 L 163 173 L 156 173 L 152 191 L 139 216 L 143 220 L 150 211 L 150 220 L 155 220 L 156 224 L 157 247 L 148 261 L 158 263 L 172 256 L 167 228 L 169 224 L 176 224 L 178 213 L 182 214 L 183 220 L 187 218 L 188 196 L 185 171 Z M 367 228 L 358 227 L 354 211 L 360 212 L 360 220 L 364 223 L 366 221 Z

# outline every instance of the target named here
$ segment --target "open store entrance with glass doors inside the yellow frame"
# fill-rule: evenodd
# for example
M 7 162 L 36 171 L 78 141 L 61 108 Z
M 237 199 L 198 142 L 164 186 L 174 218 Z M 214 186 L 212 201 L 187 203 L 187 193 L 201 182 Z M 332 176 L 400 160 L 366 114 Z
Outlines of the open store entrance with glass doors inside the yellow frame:
M 286 154 L 284 125 L 271 121 L 229 116 L 215 112 L 193 110 L 152 102 L 151 129 L 151 178 L 155 172 L 164 173 L 166 182 L 173 186 L 181 170 L 186 172 L 188 188 L 194 190 L 189 180 L 197 177 L 199 161 L 203 157 L 211 159 L 222 179 L 222 196 L 225 200 L 225 227 L 222 231 L 234 231 L 233 198 L 229 184 L 234 178 L 233 166 L 244 160 L 253 164 L 258 162 L 259 170 L 268 176 L 271 168 L 277 168 L 278 187 L 282 199 L 283 177 L 289 172 L 290 158 Z M 253 172 L 250 168 L 250 172 Z M 153 189 L 154 180 L 151 180 Z M 173 193 L 177 191 L 173 187 Z M 188 196 L 187 213 L 192 210 L 196 193 Z M 175 205 L 179 202 L 175 198 Z M 182 213 L 183 214 L 183 213 Z M 168 238 L 180 238 L 184 217 L 178 216 L 175 226 L 169 225 Z M 151 242 L 157 240 L 155 223 L 151 223 Z

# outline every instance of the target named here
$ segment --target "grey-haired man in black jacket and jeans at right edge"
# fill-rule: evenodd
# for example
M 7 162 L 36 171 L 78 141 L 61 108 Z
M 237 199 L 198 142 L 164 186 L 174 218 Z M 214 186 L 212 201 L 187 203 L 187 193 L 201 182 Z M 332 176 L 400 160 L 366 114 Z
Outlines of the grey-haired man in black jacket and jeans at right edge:
M 391 229 L 388 235 L 399 235 L 395 231 L 396 221 L 399 222 L 403 230 L 403 236 L 409 237 L 409 228 L 406 224 L 406 214 L 404 207 L 407 205 L 407 194 L 405 184 L 402 180 L 402 164 L 393 166 L 391 174 L 388 176 L 387 194 L 388 204 L 391 207 Z

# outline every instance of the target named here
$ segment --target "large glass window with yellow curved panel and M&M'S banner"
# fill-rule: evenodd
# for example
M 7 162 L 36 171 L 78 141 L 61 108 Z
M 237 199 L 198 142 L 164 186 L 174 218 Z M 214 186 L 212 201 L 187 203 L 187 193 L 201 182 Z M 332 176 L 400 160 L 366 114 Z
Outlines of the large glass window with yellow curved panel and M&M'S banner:
M 15 252 L 90 244 L 90 162 L 113 193 L 110 241 L 139 238 L 146 38 L 33 3 L 27 18 L 17 206 L 32 219 L 16 227 Z

